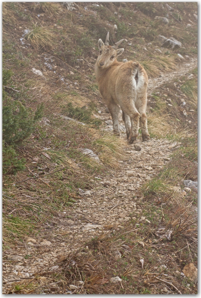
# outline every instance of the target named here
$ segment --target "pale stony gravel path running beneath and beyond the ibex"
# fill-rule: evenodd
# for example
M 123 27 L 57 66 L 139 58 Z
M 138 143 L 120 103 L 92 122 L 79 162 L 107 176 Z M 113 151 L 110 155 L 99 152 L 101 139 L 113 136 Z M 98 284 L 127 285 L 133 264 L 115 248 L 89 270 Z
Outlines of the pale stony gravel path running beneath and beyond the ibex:
M 174 72 L 149 80 L 148 93 L 196 66 L 197 61 L 192 59 Z M 101 116 L 105 121 L 111 120 L 107 113 Z M 121 117 L 119 121 L 122 137 L 125 138 Z M 107 129 L 111 130 L 108 126 Z M 177 146 L 180 144 L 171 144 L 166 139 L 142 142 L 139 138 L 133 145 L 128 144 L 123 159 L 119 161 L 119 170 L 111 171 L 108 176 L 97 176 L 95 181 L 92 179 L 95 188 L 80 190 L 81 199 L 72 207 L 63 209 L 59 216 L 59 225 L 47 224 L 47 229 L 41 231 L 39 237 L 27 238 L 23 241 L 24 245 L 3 255 L 3 294 L 9 293 L 13 280 L 43 275 L 44 272 L 58 273 L 61 270 L 57 264 L 58 255 L 84 247 L 87 241 L 102 232 L 110 233 L 111 229 L 118 231 L 128 223 L 131 212 L 135 212 L 136 218 L 139 214 L 138 222 L 148 221 L 145 217 L 140 217 L 140 198 L 135 197 L 135 193 L 144 182 L 153 179 L 158 168 L 168 163 L 172 148 Z

